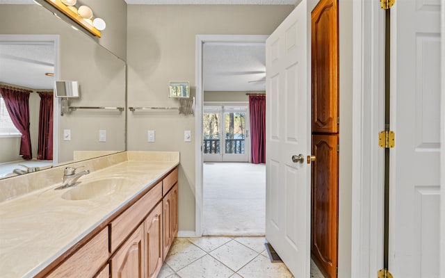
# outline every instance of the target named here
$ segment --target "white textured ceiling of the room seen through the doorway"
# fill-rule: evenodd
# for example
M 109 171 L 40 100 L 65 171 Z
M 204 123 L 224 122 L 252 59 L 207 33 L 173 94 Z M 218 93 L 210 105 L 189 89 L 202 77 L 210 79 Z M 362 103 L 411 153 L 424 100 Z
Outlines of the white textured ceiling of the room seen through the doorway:
M 204 90 L 264 91 L 265 51 L 264 44 L 204 44 Z

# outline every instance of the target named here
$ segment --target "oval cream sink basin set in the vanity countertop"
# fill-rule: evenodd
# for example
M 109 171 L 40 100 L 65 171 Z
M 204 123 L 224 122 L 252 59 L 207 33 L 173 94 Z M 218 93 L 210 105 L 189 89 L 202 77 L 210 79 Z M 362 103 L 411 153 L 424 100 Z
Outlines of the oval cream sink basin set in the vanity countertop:
M 119 193 L 133 181 L 127 177 L 113 177 L 97 179 L 94 181 L 82 181 L 77 186 L 63 193 L 62 198 L 67 200 L 94 199 Z

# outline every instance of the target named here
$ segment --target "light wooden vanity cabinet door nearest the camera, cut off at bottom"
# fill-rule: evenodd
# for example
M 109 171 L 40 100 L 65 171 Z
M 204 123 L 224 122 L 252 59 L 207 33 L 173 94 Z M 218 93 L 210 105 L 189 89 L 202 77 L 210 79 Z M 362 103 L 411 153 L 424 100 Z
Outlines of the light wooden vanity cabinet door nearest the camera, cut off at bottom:
M 144 225 L 141 224 L 111 259 L 111 278 L 142 278 L 144 253 Z

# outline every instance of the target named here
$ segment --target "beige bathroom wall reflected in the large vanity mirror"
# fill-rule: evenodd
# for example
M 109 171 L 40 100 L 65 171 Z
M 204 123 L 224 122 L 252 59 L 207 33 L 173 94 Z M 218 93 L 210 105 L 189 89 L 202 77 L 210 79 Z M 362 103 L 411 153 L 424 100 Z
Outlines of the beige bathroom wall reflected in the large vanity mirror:
M 81 90 L 81 98 L 71 101 L 72 106 L 125 106 L 124 61 L 38 5 L 0 7 L 1 34 L 60 35 L 59 79 L 79 81 Z M 56 113 L 54 116 L 60 119 L 59 162 L 72 161 L 74 150 L 125 149 L 124 113 L 74 111 L 63 117 Z M 63 141 L 63 129 L 71 129 L 71 141 Z M 99 142 L 99 129 L 106 129 L 107 142 Z

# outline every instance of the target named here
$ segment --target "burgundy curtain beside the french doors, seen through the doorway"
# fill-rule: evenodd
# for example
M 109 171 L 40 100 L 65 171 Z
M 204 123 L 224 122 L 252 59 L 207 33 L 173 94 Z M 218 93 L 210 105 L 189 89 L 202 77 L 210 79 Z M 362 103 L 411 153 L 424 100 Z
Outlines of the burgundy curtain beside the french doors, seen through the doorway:
M 249 111 L 252 163 L 266 163 L 266 96 L 250 95 Z

